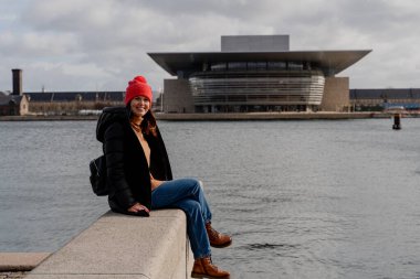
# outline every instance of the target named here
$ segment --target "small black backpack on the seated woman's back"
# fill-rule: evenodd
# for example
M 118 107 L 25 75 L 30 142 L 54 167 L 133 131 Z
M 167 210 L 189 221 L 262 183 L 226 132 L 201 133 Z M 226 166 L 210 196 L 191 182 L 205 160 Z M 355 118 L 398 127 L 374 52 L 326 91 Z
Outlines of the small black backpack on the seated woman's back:
M 88 164 L 91 170 L 91 185 L 93 192 L 98 195 L 108 195 L 109 189 L 106 183 L 106 160 L 105 155 L 101 155 L 92 160 Z

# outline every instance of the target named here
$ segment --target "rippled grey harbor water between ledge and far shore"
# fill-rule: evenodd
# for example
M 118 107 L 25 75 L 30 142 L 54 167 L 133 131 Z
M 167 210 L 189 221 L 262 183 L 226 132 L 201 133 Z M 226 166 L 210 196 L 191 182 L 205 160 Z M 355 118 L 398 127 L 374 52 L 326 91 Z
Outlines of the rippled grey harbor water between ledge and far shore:
M 203 181 L 232 278 L 420 278 L 420 119 L 160 121 Z M 0 251 L 54 251 L 105 213 L 95 121 L 0 122 Z

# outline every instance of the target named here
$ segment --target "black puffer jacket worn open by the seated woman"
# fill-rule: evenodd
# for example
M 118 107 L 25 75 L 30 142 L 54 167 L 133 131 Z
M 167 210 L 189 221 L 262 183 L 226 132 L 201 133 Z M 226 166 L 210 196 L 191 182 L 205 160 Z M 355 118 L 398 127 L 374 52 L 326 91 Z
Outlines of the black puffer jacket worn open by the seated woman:
M 150 175 L 172 180 L 165 143 L 159 129 L 157 137 L 145 135 L 150 147 L 150 168 L 141 144 L 129 125 L 129 111 L 125 107 L 105 108 L 97 121 L 96 139 L 103 142 L 106 155 L 107 183 L 111 186 L 109 206 L 114 212 L 127 213 L 139 202 L 151 207 Z

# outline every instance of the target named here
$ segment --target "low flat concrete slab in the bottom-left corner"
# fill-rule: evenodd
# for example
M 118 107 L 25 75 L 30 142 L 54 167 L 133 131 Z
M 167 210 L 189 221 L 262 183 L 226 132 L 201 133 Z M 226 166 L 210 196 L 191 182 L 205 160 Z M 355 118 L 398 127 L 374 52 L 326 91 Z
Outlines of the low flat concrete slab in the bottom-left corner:
M 0 253 L 0 271 L 29 271 L 50 253 Z

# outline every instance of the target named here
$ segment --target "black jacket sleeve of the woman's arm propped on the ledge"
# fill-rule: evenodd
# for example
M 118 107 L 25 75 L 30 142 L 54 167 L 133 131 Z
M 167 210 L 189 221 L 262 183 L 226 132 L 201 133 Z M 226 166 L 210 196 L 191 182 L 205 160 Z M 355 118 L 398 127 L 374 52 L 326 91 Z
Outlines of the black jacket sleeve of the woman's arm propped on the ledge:
M 120 124 L 111 125 L 104 137 L 107 179 L 118 204 L 128 210 L 136 203 L 124 172 L 124 130 Z

